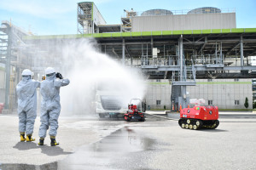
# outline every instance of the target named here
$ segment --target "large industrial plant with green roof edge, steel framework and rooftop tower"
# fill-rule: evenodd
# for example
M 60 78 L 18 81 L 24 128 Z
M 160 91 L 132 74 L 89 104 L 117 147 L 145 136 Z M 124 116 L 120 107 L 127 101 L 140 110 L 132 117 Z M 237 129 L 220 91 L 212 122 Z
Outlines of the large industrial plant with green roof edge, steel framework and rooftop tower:
M 88 37 L 96 39 L 102 53 L 117 59 L 121 65 L 143 72 L 148 79 L 145 100 L 151 109 L 164 109 L 166 105 L 167 109 L 177 111 L 179 105 L 189 105 L 192 98 L 206 99 L 208 105 L 218 105 L 221 109 L 243 109 L 245 97 L 252 108 L 256 28 L 236 28 L 235 10 L 212 7 L 188 11 L 149 9 L 138 14 L 131 9 L 125 10 L 126 15 L 119 25 L 106 25 L 95 3 L 78 3 L 77 10 L 78 34 L 75 35 L 20 33 L 12 37 L 18 35 L 12 33 L 13 26 L 2 23 L 0 31 L 6 36 L 1 39 L 5 44 L 2 51 L 6 51 L 2 55 L 7 57 L 1 61 L 7 63 L 5 71 L 9 80 L 4 90 L 6 108 L 10 105 L 10 82 L 15 83 L 11 77 L 19 79 L 20 69 L 28 67 L 40 75 L 44 65 L 38 63 L 60 65 L 50 56 L 43 58 L 46 51 L 54 51 L 55 55 L 61 53 L 55 46 L 49 48 L 50 43 Z M 16 38 L 15 42 L 19 40 L 19 44 L 11 43 L 11 38 Z M 47 48 L 42 50 L 46 43 Z M 24 63 L 23 58 L 32 62 Z M 13 73 L 9 72 L 10 65 Z

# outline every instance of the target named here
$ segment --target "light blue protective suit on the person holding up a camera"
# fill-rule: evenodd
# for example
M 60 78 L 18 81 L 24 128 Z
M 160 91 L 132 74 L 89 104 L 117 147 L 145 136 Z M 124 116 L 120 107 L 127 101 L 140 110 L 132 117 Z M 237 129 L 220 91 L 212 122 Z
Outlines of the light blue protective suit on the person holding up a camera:
M 39 127 L 39 137 L 45 138 L 49 128 L 49 136 L 56 136 L 58 129 L 58 118 L 61 112 L 60 88 L 67 86 L 68 79 L 56 79 L 55 74 L 46 77 L 41 82 L 40 92 L 43 97 L 41 102 L 41 125 Z

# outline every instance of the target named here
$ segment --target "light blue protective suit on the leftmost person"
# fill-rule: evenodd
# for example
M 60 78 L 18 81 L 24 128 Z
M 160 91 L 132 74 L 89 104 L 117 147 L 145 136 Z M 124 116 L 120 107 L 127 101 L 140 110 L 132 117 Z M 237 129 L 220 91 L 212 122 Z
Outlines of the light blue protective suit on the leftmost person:
M 22 77 L 16 86 L 18 96 L 18 115 L 20 133 L 32 134 L 37 117 L 37 90 L 40 82 L 34 81 L 30 76 Z

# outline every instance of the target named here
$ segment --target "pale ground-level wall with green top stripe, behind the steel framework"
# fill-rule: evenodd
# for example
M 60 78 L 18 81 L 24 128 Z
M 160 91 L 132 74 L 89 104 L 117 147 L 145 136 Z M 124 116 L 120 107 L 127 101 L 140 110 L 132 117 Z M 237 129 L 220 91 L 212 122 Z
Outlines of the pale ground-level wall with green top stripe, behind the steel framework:
M 172 93 L 169 81 L 149 80 L 147 105 L 154 109 L 164 109 L 166 105 L 169 110 Z M 206 99 L 206 105 L 218 105 L 220 109 L 245 109 L 246 97 L 249 100 L 248 108 L 253 108 L 255 101 L 255 97 L 252 99 L 252 79 L 197 79 L 195 86 L 187 87 L 186 95 L 190 99 Z

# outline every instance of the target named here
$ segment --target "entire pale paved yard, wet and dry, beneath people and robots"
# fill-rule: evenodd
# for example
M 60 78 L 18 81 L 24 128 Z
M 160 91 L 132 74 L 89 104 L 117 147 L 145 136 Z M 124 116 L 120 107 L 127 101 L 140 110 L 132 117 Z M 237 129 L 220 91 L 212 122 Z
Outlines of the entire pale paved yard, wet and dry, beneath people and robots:
M 58 147 L 18 142 L 17 120 L 16 116 L 0 116 L 2 170 L 256 167 L 256 119 L 252 118 L 224 118 L 215 130 L 195 131 L 154 116 L 146 122 L 61 117 Z

